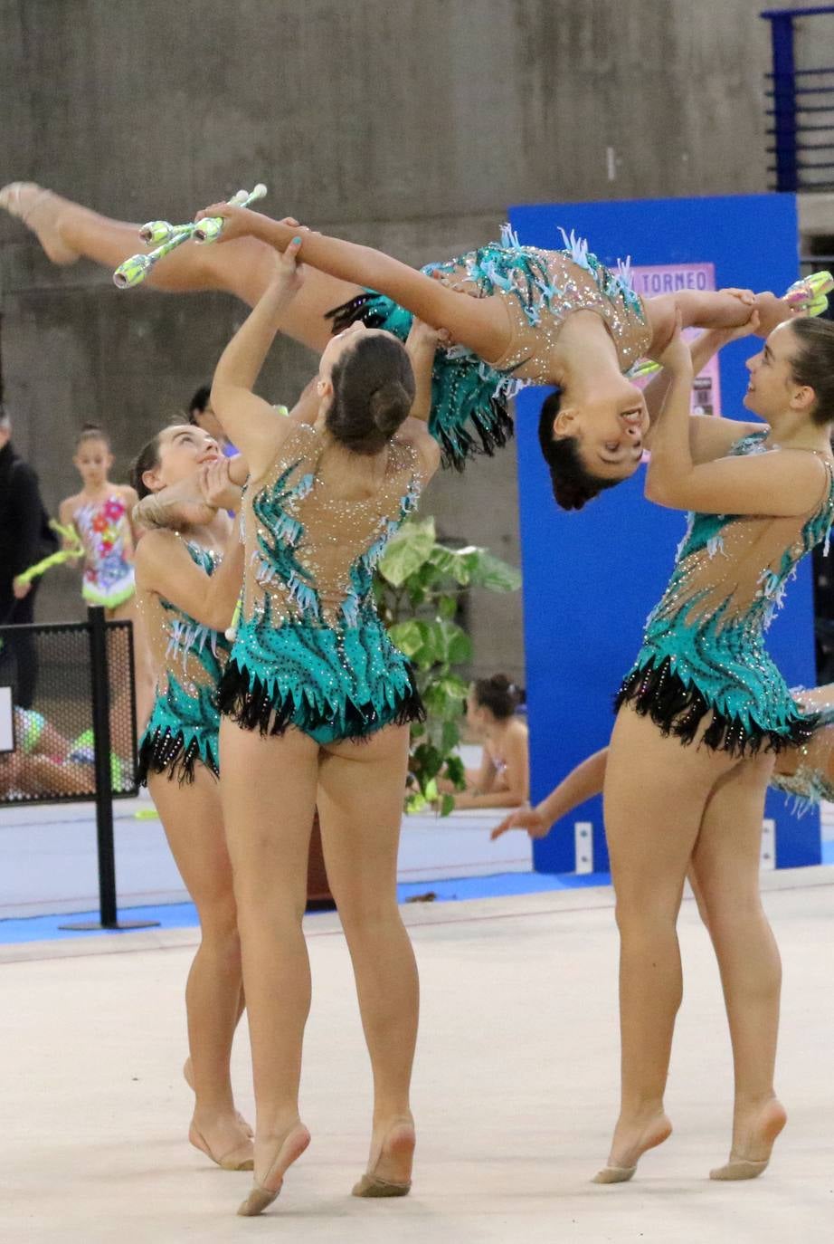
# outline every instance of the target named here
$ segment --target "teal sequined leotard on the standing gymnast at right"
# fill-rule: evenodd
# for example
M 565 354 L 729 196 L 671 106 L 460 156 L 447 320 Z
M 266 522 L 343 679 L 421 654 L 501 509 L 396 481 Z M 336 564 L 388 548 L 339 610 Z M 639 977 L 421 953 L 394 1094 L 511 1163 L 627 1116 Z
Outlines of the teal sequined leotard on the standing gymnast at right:
M 745 437 L 731 453 L 766 453 L 767 435 L 766 428 Z M 815 718 L 788 690 L 764 648 L 764 631 L 799 561 L 829 536 L 834 473 L 828 459 L 820 462 L 828 484 L 804 518 L 690 515 L 675 572 L 649 616 L 616 708 L 631 703 L 682 743 L 706 719 L 705 745 L 731 755 L 807 743 Z

